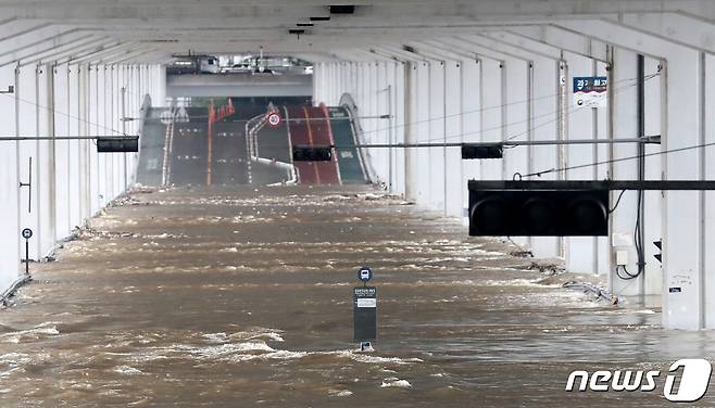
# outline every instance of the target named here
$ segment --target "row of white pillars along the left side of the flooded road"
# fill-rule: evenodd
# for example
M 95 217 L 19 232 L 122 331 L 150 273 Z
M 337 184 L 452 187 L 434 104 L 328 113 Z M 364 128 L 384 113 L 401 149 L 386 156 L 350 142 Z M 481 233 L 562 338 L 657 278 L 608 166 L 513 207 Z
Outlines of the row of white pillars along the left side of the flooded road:
M 159 65 L 5 65 L 0 67 L 0 288 L 17 279 L 34 231 L 30 259 L 41 259 L 73 229 L 135 180 L 136 154 L 98 154 L 93 140 L 1 140 L 2 137 L 138 135 L 148 94 L 164 101 Z M 122 120 L 126 115 L 130 120 Z M 32 165 L 30 165 L 32 157 Z M 29 182 L 32 189 L 20 187 Z

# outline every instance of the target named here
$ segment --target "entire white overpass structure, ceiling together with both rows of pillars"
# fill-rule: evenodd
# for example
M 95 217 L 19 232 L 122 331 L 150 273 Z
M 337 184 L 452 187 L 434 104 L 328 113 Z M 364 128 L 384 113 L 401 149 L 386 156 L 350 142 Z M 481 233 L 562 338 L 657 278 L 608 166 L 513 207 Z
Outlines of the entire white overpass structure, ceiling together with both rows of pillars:
M 165 103 L 173 54 L 265 50 L 313 62 L 314 104 L 363 118 L 355 127 L 373 181 L 465 222 L 469 179 L 715 179 L 710 0 L 5 1 L 0 16 L 0 135 L 136 135 L 140 120 L 121 118 Z M 300 138 L 310 139 L 303 125 Z M 660 144 L 589 142 L 652 135 Z M 565 143 L 539 143 L 553 140 Z M 36 231 L 29 252 L 41 258 L 131 184 L 136 156 L 98 156 L 91 140 L 3 143 L 5 288 L 18 278 L 17 231 Z M 448 143 L 493 143 L 503 157 L 462 161 Z M 378 144 L 388 148 L 368 146 Z M 498 152 L 467 151 L 481 155 Z M 30 156 L 39 200 L 26 212 L 27 191 L 14 187 Z M 661 294 L 667 328 L 715 328 L 714 193 L 610 194 L 620 201 L 607 237 L 516 241 L 564 257 L 569 270 L 607 276 L 612 293 Z M 654 241 L 662 264 L 644 244 Z M 630 254 L 632 280 L 618 277 L 616 252 Z

